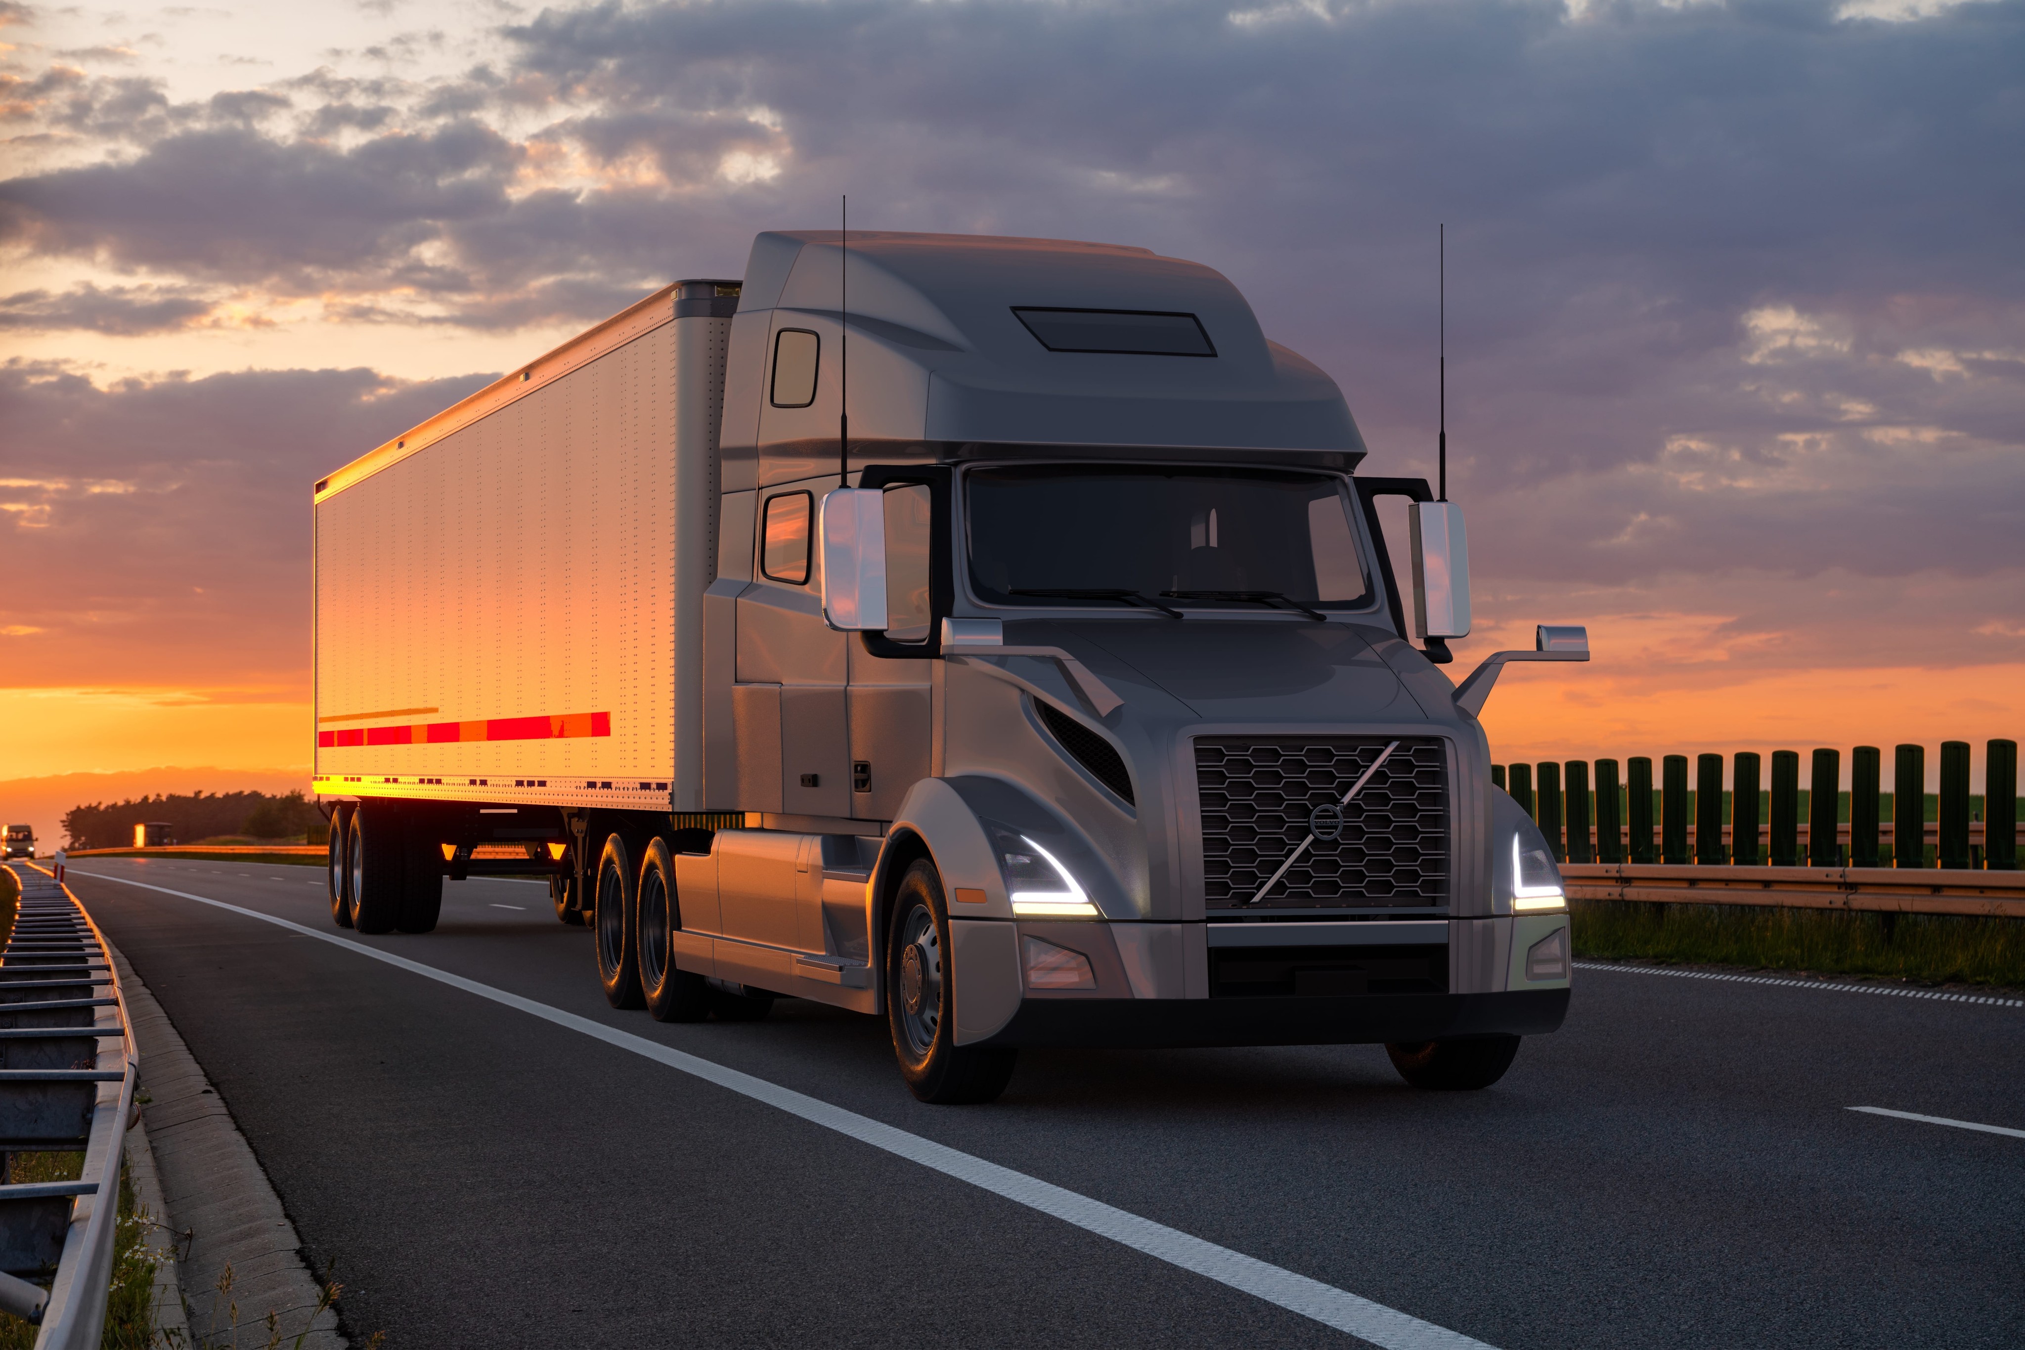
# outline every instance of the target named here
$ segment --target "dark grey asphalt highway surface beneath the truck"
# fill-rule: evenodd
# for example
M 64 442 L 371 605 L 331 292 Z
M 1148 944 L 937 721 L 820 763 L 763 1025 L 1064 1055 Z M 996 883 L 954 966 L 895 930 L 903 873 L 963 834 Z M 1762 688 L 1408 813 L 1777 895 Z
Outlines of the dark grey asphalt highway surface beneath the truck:
M 1345 1346 L 1203 1275 L 344 945 L 316 868 L 79 860 L 346 1330 L 411 1346 Z M 1577 972 L 1484 1093 L 1379 1046 L 1027 1050 L 925 1107 L 885 1024 L 614 1012 L 537 884 L 356 937 L 1501 1350 L 2025 1344 L 2025 1008 Z

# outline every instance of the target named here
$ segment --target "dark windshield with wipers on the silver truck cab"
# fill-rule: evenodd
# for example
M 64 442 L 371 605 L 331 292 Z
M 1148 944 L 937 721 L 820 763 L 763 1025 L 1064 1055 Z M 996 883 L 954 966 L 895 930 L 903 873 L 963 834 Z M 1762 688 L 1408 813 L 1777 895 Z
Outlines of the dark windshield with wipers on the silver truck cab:
M 1334 474 L 1021 463 L 972 470 L 964 486 L 970 581 L 986 603 L 1371 603 Z

